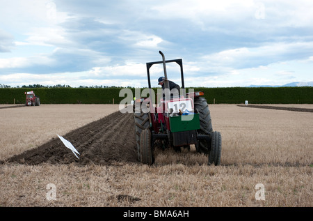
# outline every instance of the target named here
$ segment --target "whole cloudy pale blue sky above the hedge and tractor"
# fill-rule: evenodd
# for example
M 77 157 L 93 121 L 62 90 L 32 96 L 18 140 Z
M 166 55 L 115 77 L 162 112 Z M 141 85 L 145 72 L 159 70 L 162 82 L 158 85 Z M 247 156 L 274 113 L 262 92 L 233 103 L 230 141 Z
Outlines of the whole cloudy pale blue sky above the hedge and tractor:
M 0 84 L 186 87 L 313 81 L 313 1 L 0 0 Z M 181 84 L 179 66 L 168 79 Z M 163 76 L 150 68 L 152 86 Z

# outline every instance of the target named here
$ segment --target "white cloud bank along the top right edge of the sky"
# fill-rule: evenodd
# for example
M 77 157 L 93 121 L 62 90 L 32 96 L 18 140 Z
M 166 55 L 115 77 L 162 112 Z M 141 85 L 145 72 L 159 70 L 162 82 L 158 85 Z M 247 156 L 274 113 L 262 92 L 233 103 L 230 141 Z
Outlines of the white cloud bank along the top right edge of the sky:
M 159 19 L 181 18 L 197 23 L 220 24 L 246 19 L 275 21 L 268 26 L 311 26 L 313 2 L 307 0 L 220 0 L 220 1 L 161 1 L 152 10 L 157 11 Z M 152 15 L 151 15 L 152 16 Z M 250 22 L 246 20 L 245 22 Z M 242 24 L 245 25 L 244 23 Z

